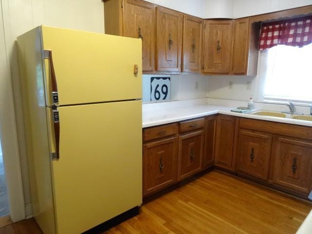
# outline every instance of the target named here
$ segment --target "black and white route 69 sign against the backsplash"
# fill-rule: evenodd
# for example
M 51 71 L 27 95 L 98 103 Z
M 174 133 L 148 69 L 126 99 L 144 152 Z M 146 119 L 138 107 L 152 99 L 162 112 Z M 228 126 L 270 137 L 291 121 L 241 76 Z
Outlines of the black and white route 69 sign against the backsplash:
M 170 100 L 170 77 L 151 77 L 151 101 Z

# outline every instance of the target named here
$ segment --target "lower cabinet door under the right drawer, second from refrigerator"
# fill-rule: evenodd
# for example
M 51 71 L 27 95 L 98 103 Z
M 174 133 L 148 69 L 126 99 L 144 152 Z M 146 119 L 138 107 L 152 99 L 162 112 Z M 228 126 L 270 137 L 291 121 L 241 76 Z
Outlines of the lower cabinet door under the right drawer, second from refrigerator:
M 179 137 L 178 180 L 201 170 L 204 131 Z

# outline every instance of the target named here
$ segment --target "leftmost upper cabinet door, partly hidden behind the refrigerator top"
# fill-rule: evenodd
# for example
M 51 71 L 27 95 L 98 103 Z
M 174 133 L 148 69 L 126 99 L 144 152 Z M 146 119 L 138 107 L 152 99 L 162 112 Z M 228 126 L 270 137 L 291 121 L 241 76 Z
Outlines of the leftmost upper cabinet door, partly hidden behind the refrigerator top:
M 155 5 L 141 0 L 125 0 L 123 36 L 142 39 L 142 70 L 155 69 Z

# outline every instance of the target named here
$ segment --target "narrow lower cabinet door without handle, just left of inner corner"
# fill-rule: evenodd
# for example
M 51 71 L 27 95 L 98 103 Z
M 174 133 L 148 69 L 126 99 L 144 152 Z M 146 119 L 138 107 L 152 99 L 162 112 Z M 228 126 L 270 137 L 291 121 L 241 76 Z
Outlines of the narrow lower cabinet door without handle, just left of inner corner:
M 203 154 L 203 168 L 206 169 L 214 165 L 215 162 L 215 130 L 216 116 L 206 117 L 205 119 L 205 144 Z

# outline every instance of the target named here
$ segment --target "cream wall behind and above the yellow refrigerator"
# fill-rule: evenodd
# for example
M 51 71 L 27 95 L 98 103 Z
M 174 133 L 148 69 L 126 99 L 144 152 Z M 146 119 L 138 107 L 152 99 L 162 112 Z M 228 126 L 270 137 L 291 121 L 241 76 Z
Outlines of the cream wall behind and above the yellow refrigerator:
M 27 203 L 30 201 L 30 193 L 25 140 L 23 138 L 24 129 L 16 38 L 40 24 L 104 33 L 103 3 L 100 0 L 1 0 L 1 4 L 3 7 L 6 55 L 14 89 L 24 198 L 26 207 L 29 207 Z M 1 50 L 1 55 L 4 53 L 5 50 Z M 3 67 L 0 67 L 1 78 L 4 72 L 3 69 Z M 10 87 L 12 87 L 11 84 Z M 7 101 L 10 103 L 12 100 L 8 99 Z M 26 213 L 28 213 L 26 215 L 30 215 L 29 210 Z

